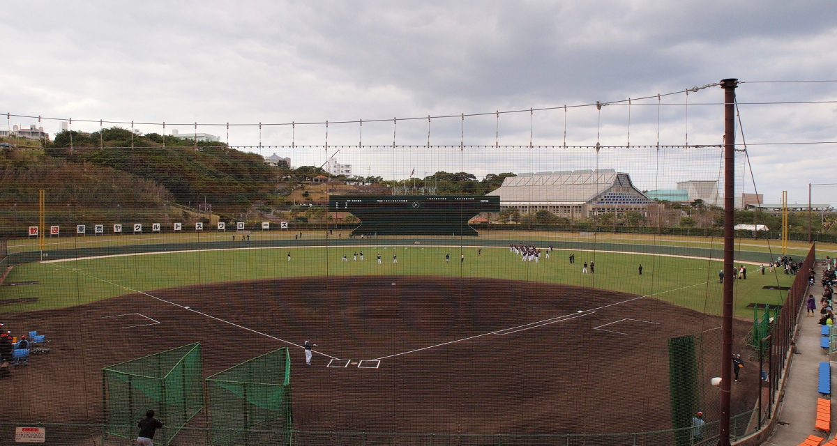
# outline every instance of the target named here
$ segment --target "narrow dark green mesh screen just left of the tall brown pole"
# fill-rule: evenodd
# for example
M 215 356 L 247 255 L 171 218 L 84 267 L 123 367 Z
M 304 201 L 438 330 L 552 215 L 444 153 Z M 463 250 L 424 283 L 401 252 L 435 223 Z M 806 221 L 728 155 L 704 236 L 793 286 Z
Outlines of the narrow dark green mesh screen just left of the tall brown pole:
M 671 427 L 675 444 L 691 443 L 691 418 L 698 411 L 697 357 L 695 336 L 669 338 L 669 386 L 671 393 Z

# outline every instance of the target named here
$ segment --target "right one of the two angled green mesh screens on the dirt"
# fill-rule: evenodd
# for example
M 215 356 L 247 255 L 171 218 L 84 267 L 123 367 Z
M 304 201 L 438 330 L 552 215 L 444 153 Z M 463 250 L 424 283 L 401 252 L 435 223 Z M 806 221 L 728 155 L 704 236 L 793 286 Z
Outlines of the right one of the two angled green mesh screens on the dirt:
M 288 347 L 208 377 L 207 389 L 213 444 L 290 443 Z

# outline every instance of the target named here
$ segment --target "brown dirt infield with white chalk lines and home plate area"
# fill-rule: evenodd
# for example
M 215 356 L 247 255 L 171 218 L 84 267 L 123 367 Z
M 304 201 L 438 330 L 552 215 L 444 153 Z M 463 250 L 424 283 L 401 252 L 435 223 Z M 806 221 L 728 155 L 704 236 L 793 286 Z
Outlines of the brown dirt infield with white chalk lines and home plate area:
M 99 322 L 134 313 L 159 323 Z M 102 368 L 198 341 L 203 377 L 287 346 L 293 426 L 306 431 L 666 429 L 668 339 L 699 335 L 701 370 L 720 367 L 716 315 L 614 291 L 504 279 L 265 279 L 7 316 L 71 340 L 20 371 L 28 385 L 17 391 L 22 403 L 7 411 L 14 420 L 103 423 Z M 80 320 L 91 322 L 80 328 Z M 751 324 L 736 321 L 737 350 Z M 300 347 L 309 336 L 319 345 L 312 367 Z M 347 367 L 327 367 L 334 358 Z M 357 367 L 371 360 L 377 367 Z M 706 418 L 716 419 L 709 378 L 698 377 L 696 392 Z M 754 369 L 742 374 L 732 413 L 752 408 L 757 386 Z M 187 424 L 208 426 L 206 411 Z

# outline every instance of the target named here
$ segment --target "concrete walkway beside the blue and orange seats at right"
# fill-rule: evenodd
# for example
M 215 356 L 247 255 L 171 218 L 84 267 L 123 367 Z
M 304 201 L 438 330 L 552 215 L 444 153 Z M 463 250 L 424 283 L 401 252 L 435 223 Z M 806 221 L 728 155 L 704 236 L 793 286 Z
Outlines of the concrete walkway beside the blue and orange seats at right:
M 819 363 L 829 361 L 819 346 L 820 326 L 819 322 L 819 299 L 823 295 L 823 287 L 819 285 L 822 277 L 823 265 L 817 263 L 814 270 L 817 272 L 815 285 L 810 287 L 808 294 L 814 295 L 817 300 L 817 311 L 814 317 L 799 317 L 799 335 L 796 343 L 797 354 L 793 355 L 793 362 L 790 367 L 787 381 L 787 391 L 784 400 L 778 406 L 778 424 L 773 435 L 764 444 L 778 446 L 795 446 L 802 443 L 809 435 L 822 436 L 814 429 L 814 420 L 817 415 L 817 383 L 819 375 Z M 800 272 L 799 274 L 804 274 Z M 805 299 L 808 295 L 805 295 Z M 803 305 L 805 306 L 805 305 Z M 832 371 L 833 372 L 833 371 Z M 834 408 L 832 408 L 831 426 L 834 430 Z M 829 437 L 830 438 L 830 437 Z M 829 439 L 826 438 L 826 439 Z

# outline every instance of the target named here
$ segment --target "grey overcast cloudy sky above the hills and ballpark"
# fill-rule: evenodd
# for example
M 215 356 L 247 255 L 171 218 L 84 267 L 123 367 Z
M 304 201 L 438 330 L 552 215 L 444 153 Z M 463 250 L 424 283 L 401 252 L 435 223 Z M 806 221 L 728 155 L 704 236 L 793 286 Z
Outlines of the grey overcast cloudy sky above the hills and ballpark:
M 73 118 L 80 131 L 100 119 L 154 123 L 136 128 L 158 133 L 162 122 L 181 133 L 198 122 L 233 146 L 322 146 L 326 126 L 301 123 L 329 120 L 329 154 L 385 178 L 600 167 L 644 189 L 717 179 L 715 148 L 526 146 L 655 145 L 658 134 L 663 145 L 720 144 L 722 90 L 683 92 L 734 77 L 745 82 L 737 95 L 755 178 L 740 170 L 739 188 L 807 202 L 809 182 L 837 182 L 837 103 L 753 104 L 837 100 L 837 82 L 757 83 L 837 79 L 837 5 L 827 0 L 9 2 L 0 32 L 0 112 Z M 655 95 L 678 91 L 658 104 Z M 460 117 L 497 110 L 526 112 Z M 255 125 L 228 136 L 228 122 Z M 290 122 L 300 124 L 267 125 Z M 15 123 L 37 119 L 0 126 Z M 43 126 L 54 134 L 59 121 Z M 393 139 L 523 147 L 368 147 Z M 832 143 L 761 145 L 819 141 Z M 295 166 L 326 158 L 322 147 L 244 150 Z M 814 202 L 835 203 L 835 193 L 814 187 Z

